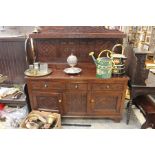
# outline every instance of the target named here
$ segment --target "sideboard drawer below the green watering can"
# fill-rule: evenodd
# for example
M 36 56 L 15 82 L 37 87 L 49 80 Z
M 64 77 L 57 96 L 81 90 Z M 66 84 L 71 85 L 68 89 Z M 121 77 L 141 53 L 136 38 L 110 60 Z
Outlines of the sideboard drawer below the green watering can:
M 124 85 L 115 83 L 95 83 L 91 86 L 92 90 L 124 90 Z

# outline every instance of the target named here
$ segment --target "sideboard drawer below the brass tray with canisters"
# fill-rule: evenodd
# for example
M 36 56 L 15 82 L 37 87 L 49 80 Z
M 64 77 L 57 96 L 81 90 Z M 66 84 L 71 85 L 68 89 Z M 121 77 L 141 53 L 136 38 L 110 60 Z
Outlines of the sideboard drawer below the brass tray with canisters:
M 61 82 L 50 81 L 32 81 L 32 89 L 65 89 L 65 84 Z

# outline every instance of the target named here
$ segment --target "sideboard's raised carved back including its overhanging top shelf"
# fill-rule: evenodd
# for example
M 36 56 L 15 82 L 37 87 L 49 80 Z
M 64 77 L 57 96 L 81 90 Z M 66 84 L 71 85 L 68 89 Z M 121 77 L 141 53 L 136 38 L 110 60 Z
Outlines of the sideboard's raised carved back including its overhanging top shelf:
M 66 63 L 67 57 L 73 53 L 79 63 L 92 63 L 89 52 L 95 56 L 103 49 L 112 49 L 115 44 L 122 43 L 125 34 L 118 30 L 107 30 L 104 27 L 68 26 L 45 27 L 40 33 L 30 34 L 34 51 L 31 51 L 30 39 L 27 42 L 29 62 L 35 53 L 36 61 L 52 64 Z

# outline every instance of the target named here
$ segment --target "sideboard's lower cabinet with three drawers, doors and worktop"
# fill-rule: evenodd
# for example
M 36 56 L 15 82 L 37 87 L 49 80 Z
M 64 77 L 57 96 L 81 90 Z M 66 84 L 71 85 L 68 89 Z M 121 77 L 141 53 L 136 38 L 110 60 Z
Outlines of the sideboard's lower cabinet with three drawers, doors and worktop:
M 95 70 L 83 69 L 75 76 L 53 70 L 49 76 L 26 80 L 34 110 L 57 110 L 63 117 L 122 118 L 127 77 L 98 79 Z

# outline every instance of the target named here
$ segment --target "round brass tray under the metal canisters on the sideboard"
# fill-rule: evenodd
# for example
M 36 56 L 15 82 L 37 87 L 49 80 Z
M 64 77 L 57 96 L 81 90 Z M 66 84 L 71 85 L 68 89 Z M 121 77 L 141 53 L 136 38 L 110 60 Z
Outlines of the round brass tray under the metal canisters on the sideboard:
M 29 69 L 27 69 L 27 70 L 24 72 L 24 74 L 25 74 L 26 76 L 33 76 L 33 77 L 46 76 L 46 75 L 49 75 L 49 74 L 51 74 L 51 73 L 52 73 L 52 69 L 48 69 L 48 72 L 47 72 L 47 73 L 38 71 L 37 74 L 34 74 L 34 73 L 32 73 Z

